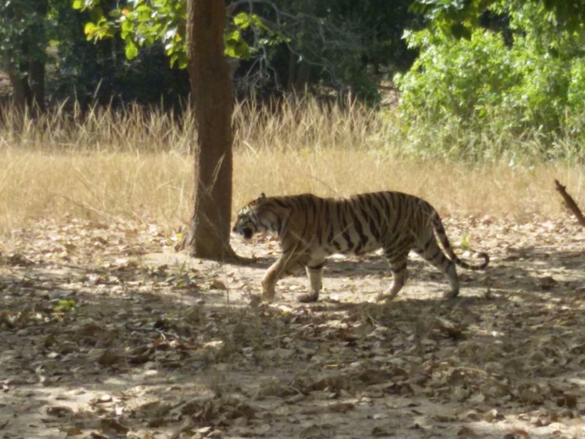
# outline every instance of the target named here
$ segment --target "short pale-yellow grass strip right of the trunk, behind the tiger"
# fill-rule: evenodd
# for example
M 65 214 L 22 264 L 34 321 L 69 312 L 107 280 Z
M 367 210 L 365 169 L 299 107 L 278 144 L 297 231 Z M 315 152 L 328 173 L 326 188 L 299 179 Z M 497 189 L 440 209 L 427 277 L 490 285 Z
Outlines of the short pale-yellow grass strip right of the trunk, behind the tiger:
M 539 164 L 512 169 L 505 164 L 470 167 L 452 163 L 397 161 L 373 151 L 266 152 L 262 160 L 240 153 L 234 203 L 260 194 L 312 192 L 343 196 L 397 190 L 428 200 L 443 215 L 488 215 L 522 219 L 563 214 L 553 179 L 564 181 L 580 204 L 585 174 L 579 167 Z M 249 176 L 253 176 L 250 178 Z

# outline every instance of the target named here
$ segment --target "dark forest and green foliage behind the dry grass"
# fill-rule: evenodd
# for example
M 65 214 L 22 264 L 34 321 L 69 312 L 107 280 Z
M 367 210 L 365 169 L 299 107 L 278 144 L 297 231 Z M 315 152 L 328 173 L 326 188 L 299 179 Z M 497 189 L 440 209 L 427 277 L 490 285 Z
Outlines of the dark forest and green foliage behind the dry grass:
M 79 11 L 93 3 L 2 2 L 4 100 L 33 111 L 137 103 L 181 114 L 184 3 L 106 0 Z M 380 108 L 389 124 L 397 116 L 406 142 L 393 152 L 465 162 L 580 157 L 583 6 L 572 5 L 228 2 L 226 55 L 239 100 L 268 105 L 308 92 Z M 385 99 L 393 92 L 398 112 Z

